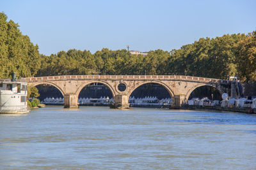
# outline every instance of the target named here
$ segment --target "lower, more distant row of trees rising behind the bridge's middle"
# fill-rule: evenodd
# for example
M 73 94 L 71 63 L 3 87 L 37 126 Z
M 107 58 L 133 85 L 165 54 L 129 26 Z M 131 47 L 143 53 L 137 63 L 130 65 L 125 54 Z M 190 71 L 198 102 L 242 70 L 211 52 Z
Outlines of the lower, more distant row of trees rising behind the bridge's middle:
M 103 48 L 94 54 L 84 50 L 58 52 L 42 56 L 42 68 L 36 76 L 63 74 L 167 74 L 169 52 L 150 51 L 148 55 L 132 55 L 127 50 Z

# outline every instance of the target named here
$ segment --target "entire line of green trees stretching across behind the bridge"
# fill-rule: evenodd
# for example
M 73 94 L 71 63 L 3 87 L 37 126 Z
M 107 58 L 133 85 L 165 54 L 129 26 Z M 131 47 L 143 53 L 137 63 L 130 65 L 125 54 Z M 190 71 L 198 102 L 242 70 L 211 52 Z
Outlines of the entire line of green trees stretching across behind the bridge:
M 50 56 L 39 54 L 19 25 L 0 13 L 0 78 L 63 74 L 182 74 L 241 81 L 256 81 L 256 31 L 200 38 L 170 52 L 151 50 L 148 55 L 103 48 L 95 53 L 70 49 Z

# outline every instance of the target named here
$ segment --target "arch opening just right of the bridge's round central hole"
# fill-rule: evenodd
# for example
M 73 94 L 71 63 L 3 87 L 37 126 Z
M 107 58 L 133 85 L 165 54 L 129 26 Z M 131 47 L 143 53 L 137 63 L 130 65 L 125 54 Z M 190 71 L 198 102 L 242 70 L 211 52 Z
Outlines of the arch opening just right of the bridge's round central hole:
M 129 103 L 131 107 L 169 107 L 172 104 L 172 96 L 163 85 L 146 83 L 132 92 Z

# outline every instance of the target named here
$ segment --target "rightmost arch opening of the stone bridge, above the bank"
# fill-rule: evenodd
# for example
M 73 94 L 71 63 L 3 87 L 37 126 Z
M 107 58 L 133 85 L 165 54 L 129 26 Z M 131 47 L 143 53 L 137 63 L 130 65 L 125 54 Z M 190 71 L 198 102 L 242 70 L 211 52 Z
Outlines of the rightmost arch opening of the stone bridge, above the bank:
M 204 85 L 193 90 L 193 92 L 191 92 L 191 94 L 189 95 L 188 99 L 191 100 L 196 98 L 209 99 L 210 101 L 221 101 L 221 93 L 215 87 Z

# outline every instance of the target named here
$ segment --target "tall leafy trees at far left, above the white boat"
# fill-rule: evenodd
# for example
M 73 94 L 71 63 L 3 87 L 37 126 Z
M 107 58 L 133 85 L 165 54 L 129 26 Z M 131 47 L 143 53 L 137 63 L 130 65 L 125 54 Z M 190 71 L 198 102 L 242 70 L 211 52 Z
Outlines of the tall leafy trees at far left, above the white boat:
M 0 78 L 10 78 L 13 71 L 17 76 L 34 76 L 40 68 L 38 46 L 22 35 L 18 27 L 0 13 Z

